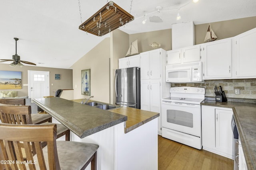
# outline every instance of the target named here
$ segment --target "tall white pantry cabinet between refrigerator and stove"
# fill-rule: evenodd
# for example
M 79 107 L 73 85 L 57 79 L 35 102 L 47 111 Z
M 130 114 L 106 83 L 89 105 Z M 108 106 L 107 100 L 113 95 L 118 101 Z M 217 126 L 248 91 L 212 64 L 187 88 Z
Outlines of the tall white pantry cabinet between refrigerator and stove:
M 158 134 L 161 128 L 161 99 L 170 96 L 170 83 L 165 81 L 166 51 L 156 49 L 140 53 L 140 109 L 160 113 Z

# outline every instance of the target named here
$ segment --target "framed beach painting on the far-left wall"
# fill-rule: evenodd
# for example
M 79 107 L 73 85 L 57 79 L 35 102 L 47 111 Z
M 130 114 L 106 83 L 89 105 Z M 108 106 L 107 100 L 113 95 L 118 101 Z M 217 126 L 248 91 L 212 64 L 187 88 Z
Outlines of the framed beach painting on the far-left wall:
M 0 70 L 0 89 L 21 89 L 21 71 Z

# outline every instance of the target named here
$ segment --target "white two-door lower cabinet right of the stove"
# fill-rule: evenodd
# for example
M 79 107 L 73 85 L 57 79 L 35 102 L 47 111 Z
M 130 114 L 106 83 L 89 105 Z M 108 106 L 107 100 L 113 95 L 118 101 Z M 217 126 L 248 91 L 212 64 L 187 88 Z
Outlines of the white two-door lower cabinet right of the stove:
M 202 107 L 202 146 L 204 150 L 234 158 L 231 108 Z

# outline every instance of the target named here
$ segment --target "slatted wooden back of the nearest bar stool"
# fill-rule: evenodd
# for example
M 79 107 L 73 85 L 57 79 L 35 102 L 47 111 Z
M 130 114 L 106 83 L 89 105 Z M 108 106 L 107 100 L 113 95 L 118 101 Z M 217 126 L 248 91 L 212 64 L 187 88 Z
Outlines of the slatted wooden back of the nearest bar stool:
M 0 123 L 0 131 L 0 160 L 12 162 L 4 164 L 6 170 L 36 170 L 36 167 L 40 170 L 60 170 L 55 124 L 11 125 Z M 48 154 L 46 155 L 42 151 L 42 141 L 47 142 L 45 149 Z M 31 143 L 35 146 L 33 149 L 31 149 Z M 24 153 L 22 154 L 23 147 L 25 158 Z M 36 152 L 34 157 L 33 152 Z M 26 162 L 26 164 L 21 162 Z M 48 165 L 49 167 L 47 167 Z

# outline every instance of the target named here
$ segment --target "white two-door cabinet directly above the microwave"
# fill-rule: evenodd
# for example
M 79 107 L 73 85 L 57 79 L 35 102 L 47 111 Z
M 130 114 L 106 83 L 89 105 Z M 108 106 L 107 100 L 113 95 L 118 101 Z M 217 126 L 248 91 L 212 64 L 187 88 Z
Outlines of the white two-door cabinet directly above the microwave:
M 182 64 L 200 61 L 200 45 L 174 49 L 166 52 L 166 64 Z

